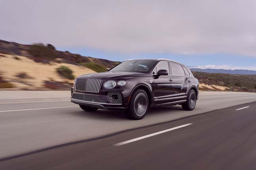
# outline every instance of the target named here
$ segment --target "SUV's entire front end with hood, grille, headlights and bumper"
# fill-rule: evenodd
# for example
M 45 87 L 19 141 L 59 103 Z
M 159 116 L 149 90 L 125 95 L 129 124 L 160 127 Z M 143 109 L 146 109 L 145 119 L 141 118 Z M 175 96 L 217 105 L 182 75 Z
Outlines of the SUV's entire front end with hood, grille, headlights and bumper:
M 79 76 L 71 87 L 71 102 L 107 110 L 125 110 L 137 74 L 105 72 Z

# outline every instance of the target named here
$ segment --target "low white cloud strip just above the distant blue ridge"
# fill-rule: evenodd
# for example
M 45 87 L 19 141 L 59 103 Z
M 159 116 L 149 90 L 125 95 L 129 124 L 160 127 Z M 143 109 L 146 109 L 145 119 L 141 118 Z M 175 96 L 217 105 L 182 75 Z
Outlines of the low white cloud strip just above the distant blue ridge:
M 190 68 L 212 68 L 212 69 L 225 69 L 225 70 L 256 70 L 256 66 L 246 66 L 246 67 L 238 67 L 238 66 L 229 66 L 229 65 L 205 65 L 205 66 L 191 66 Z

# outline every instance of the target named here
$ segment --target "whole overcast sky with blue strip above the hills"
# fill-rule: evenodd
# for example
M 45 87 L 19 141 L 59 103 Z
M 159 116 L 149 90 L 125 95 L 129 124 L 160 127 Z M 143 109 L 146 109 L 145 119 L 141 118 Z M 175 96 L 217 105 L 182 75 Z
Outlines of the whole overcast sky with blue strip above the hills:
M 256 70 L 255 0 L 0 0 L 0 39 L 109 60 Z

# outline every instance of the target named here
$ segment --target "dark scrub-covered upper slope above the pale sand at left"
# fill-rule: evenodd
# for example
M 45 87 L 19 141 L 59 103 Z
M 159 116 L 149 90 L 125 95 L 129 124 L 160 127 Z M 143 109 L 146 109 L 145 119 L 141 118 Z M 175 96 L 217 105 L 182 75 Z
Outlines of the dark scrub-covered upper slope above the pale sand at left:
M 84 62 L 95 62 L 104 65 L 106 68 L 112 68 L 116 64 L 115 61 L 85 57 L 79 54 L 69 53 L 69 51 L 58 51 L 53 45 L 44 45 L 42 43 L 24 45 L 0 40 L 0 53 L 19 55 L 40 63 L 49 63 L 52 61 L 79 65 Z

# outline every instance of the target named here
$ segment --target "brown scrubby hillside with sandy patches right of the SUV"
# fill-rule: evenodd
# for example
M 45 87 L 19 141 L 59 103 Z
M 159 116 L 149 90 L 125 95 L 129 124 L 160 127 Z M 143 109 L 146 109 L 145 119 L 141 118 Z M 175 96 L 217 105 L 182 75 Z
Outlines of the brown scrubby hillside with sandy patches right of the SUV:
M 203 91 L 256 92 L 256 75 L 193 72 Z

